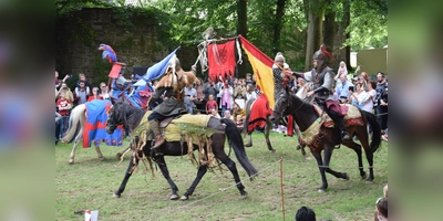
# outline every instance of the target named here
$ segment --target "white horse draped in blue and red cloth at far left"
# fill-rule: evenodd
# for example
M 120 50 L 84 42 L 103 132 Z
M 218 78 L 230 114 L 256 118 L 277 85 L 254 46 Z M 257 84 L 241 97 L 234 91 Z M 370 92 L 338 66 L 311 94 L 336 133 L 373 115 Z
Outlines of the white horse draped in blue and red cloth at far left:
M 76 137 L 74 139 L 74 147 L 72 148 L 70 160 L 69 160 L 69 164 L 71 164 L 71 165 L 74 164 L 76 146 L 83 139 L 84 122 L 85 122 L 85 119 L 87 117 L 85 110 L 86 110 L 86 105 L 85 104 L 78 105 L 76 107 L 74 107 L 72 109 L 71 116 L 70 116 L 70 120 L 69 120 L 68 131 L 64 135 L 64 137 L 61 138 L 62 143 L 68 144 L 72 139 L 72 137 L 74 137 L 75 131 L 78 130 L 78 127 L 79 127 L 79 124 L 80 124 L 80 129 L 79 129 L 78 135 L 76 135 Z M 94 145 L 94 146 L 95 146 L 95 151 L 99 155 L 99 159 L 101 159 L 101 160 L 105 159 L 103 157 L 103 155 L 102 155 L 102 151 L 100 150 L 100 146 L 96 146 L 96 145 Z M 130 147 L 127 147 L 123 151 L 119 152 L 116 155 L 117 158 L 122 158 L 124 156 L 124 154 L 126 154 L 127 150 L 130 150 Z

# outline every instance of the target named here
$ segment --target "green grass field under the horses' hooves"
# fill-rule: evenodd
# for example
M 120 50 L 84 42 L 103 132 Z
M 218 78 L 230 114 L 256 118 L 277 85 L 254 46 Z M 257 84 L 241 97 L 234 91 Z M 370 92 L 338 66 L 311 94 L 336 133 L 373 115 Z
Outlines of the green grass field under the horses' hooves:
M 224 170 L 207 172 L 188 201 L 171 201 L 169 186 L 159 170 L 155 177 L 145 172 L 143 167 L 131 177 L 121 198 L 112 194 L 123 180 L 130 157 L 121 165 L 115 155 L 124 147 L 106 147 L 102 152 L 106 160 L 100 161 L 94 148 L 79 148 L 75 164 L 69 165 L 72 144 L 55 146 L 55 220 L 83 220 L 74 212 L 99 210 L 99 220 L 284 220 L 281 207 L 280 162 L 282 158 L 284 201 L 286 220 L 301 206 L 316 211 L 317 219 L 331 220 L 373 220 L 375 200 L 382 196 L 388 183 L 388 144 L 382 143 L 374 154 L 373 183 L 361 179 L 356 154 L 347 148 L 336 149 L 331 167 L 348 172 L 350 180 L 337 179 L 327 173 L 329 188 L 319 193 L 321 178 L 317 162 L 305 159 L 296 150 L 296 137 L 284 137 L 271 133 L 271 144 L 276 154 L 271 154 L 262 134 L 254 134 L 254 147 L 246 151 L 251 164 L 260 171 L 254 181 L 249 181 L 246 171 L 236 161 L 248 197 L 243 199 L 235 187 L 231 173 Z M 228 146 L 225 146 L 228 152 Z M 308 150 L 308 149 L 307 149 Z M 309 152 L 309 150 L 308 150 Z M 310 155 L 310 152 L 309 152 Z M 166 157 L 171 177 L 183 194 L 196 176 L 196 167 L 186 156 Z M 368 162 L 363 155 L 365 171 Z

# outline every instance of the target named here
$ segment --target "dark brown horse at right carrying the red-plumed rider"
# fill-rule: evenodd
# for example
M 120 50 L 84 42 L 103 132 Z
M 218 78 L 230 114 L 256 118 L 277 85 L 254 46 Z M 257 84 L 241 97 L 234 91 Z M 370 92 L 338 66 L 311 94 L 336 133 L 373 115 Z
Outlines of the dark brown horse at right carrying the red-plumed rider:
M 352 106 L 351 106 L 352 107 Z M 351 108 L 350 107 L 350 108 Z M 357 107 L 356 107 L 357 108 Z M 319 107 L 317 108 L 319 109 Z M 347 125 L 347 130 L 348 133 L 352 136 L 356 135 L 361 145 L 364 148 L 364 154 L 367 156 L 367 160 L 369 162 L 369 177 L 367 179 L 367 182 L 372 182 L 374 179 L 373 176 L 373 152 L 380 147 L 381 144 L 381 130 L 379 127 L 379 124 L 377 122 L 375 116 L 372 113 L 364 112 L 361 109 L 358 109 L 358 112 L 361 115 L 361 122 L 362 124 L 351 124 Z M 330 127 L 324 127 L 323 118 L 327 117 L 326 113 L 322 112 L 321 114 L 318 114 L 316 110 L 316 107 L 313 105 L 310 105 L 309 103 L 306 103 L 298 96 L 296 96 L 295 93 L 289 92 L 286 90 L 286 92 L 278 98 L 272 116 L 269 118 L 271 122 L 278 122 L 280 117 L 286 116 L 286 115 L 292 115 L 293 119 L 300 127 L 300 130 L 303 133 L 307 133 L 307 129 L 313 125 L 313 123 L 319 122 L 319 133 L 317 135 L 313 135 L 309 137 L 311 141 L 307 144 L 309 147 L 312 156 L 317 160 L 317 165 L 320 170 L 321 175 L 321 180 L 322 180 L 322 186 L 318 189 L 319 192 L 324 192 L 328 188 L 328 181 L 326 179 L 326 173 L 331 173 L 337 178 L 342 178 L 349 180 L 349 176 L 346 172 L 338 172 L 332 170 L 329 167 L 331 156 L 332 156 L 332 150 L 334 149 L 334 143 L 333 143 L 333 134 L 336 128 L 330 128 Z M 368 125 L 372 128 L 372 140 L 371 144 L 369 145 L 369 135 L 368 135 Z M 311 127 L 312 128 L 312 127 Z M 310 129 L 310 131 L 312 131 Z M 362 156 L 361 156 L 361 146 L 359 144 L 356 144 L 352 139 L 350 140 L 341 140 L 341 144 L 344 146 L 353 149 L 358 156 L 358 161 L 359 161 L 359 170 L 360 170 L 360 176 L 362 179 L 367 177 L 365 171 L 363 170 L 363 161 L 362 161 Z M 321 157 L 321 151 L 324 150 L 324 156 L 323 158 Z

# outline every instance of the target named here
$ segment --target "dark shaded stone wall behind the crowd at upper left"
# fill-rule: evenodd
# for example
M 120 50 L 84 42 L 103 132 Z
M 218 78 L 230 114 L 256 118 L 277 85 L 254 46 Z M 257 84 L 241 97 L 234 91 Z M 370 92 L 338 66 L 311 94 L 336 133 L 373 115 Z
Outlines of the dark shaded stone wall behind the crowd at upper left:
M 128 77 L 133 66 L 151 66 L 178 46 L 158 23 L 150 17 L 123 19 L 113 9 L 82 9 L 58 18 L 55 70 L 61 77 L 84 73 L 93 86 L 107 81 L 111 64 L 97 51 L 104 43 L 114 49 L 119 62 L 127 64 Z M 187 71 L 198 56 L 197 48 L 182 46 L 177 56 Z

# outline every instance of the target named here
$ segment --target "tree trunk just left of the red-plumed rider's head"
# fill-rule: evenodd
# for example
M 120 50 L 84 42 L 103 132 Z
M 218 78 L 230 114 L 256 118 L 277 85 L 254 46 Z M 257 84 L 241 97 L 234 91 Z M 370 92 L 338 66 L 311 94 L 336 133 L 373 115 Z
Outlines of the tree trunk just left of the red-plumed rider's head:
M 318 49 L 320 49 L 320 44 L 322 43 L 321 30 L 324 11 L 322 9 L 319 9 L 318 6 L 320 4 L 320 1 L 318 0 L 312 0 L 309 2 L 309 24 L 306 41 L 305 71 L 309 71 L 312 67 L 312 55 Z

